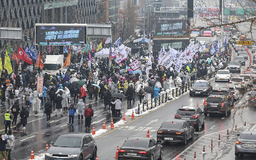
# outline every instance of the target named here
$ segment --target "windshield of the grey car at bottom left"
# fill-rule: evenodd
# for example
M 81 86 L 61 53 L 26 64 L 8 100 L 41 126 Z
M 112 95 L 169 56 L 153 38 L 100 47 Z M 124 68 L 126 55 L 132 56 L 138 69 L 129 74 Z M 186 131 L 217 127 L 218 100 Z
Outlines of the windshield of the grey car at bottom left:
M 55 147 L 80 148 L 81 138 L 59 137 L 53 144 Z

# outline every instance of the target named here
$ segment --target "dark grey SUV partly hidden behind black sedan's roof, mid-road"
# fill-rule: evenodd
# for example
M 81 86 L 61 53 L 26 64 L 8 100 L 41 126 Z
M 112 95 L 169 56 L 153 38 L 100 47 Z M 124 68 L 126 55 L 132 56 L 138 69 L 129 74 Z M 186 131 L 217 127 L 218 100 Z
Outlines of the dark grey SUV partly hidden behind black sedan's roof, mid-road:
M 175 114 L 176 119 L 187 120 L 187 122 L 194 126 L 197 131 L 204 127 L 205 116 L 199 107 L 182 106 Z

